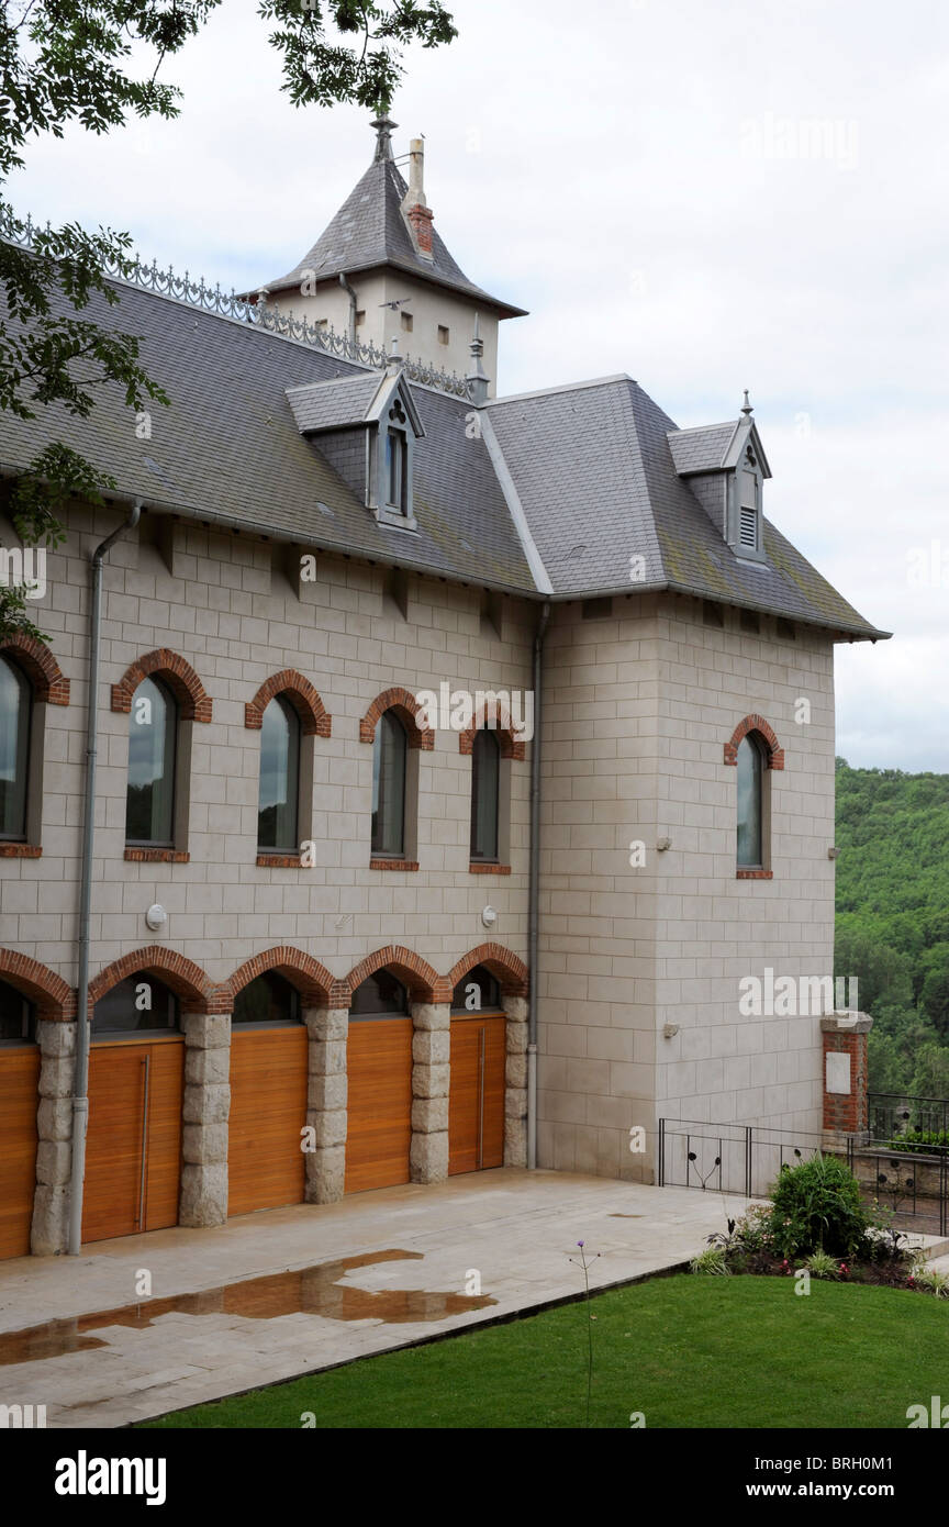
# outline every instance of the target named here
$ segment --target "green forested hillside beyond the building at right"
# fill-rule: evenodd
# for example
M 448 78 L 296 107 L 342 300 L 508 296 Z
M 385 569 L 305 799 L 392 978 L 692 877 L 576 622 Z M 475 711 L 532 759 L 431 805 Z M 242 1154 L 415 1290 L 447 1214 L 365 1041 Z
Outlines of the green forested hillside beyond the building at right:
M 835 974 L 874 1019 L 873 1092 L 949 1098 L 949 774 L 838 759 Z

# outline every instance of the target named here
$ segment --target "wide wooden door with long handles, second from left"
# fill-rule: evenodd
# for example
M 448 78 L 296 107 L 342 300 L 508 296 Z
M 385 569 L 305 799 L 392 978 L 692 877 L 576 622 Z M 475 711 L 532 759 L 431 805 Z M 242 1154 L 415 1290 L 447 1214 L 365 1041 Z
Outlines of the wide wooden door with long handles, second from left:
M 82 1240 L 179 1223 L 185 1041 L 93 1043 Z

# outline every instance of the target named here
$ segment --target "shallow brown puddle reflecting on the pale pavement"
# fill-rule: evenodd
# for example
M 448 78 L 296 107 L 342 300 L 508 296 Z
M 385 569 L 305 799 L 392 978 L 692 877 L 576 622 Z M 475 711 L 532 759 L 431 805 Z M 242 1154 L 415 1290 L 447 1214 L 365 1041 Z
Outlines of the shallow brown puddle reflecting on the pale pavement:
M 439 1293 L 429 1289 L 357 1289 L 342 1283 L 345 1274 L 357 1267 L 372 1267 L 381 1261 L 421 1261 L 418 1251 L 375 1251 L 362 1257 L 323 1261 L 298 1272 L 272 1272 L 243 1283 L 224 1283 L 201 1293 L 177 1293 L 168 1299 L 145 1304 L 124 1304 L 116 1310 L 98 1310 L 72 1319 L 46 1321 L 26 1330 L 0 1335 L 0 1367 L 14 1362 L 37 1362 L 40 1358 L 63 1358 L 73 1351 L 108 1347 L 101 1336 L 87 1332 L 108 1325 L 131 1325 L 145 1330 L 159 1315 L 243 1315 L 253 1321 L 272 1321 L 279 1315 L 322 1315 L 330 1321 L 384 1321 L 398 1325 L 410 1321 L 444 1321 L 449 1315 L 484 1310 L 497 1299 L 488 1295 Z

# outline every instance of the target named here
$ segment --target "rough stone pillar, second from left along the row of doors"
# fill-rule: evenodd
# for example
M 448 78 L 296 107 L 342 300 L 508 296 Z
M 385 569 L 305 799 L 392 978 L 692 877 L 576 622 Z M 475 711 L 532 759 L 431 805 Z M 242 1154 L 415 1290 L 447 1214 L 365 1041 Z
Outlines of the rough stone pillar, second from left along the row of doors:
M 186 1012 L 182 1197 L 179 1225 L 227 1219 L 230 1014 Z

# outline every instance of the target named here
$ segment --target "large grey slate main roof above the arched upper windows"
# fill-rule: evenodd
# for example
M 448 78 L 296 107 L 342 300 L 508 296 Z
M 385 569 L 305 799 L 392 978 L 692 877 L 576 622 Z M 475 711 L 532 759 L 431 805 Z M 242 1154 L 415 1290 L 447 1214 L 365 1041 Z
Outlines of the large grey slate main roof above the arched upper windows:
M 407 533 L 374 519 L 320 455 L 319 435 L 301 434 L 287 395 L 339 395 L 352 412 L 378 391 L 380 371 L 154 292 L 116 290 L 117 307 L 96 296 L 87 316 L 139 336 L 171 408 L 153 406 L 150 440 L 136 438 L 117 388 L 101 392 L 87 420 L 61 406 L 27 421 L 0 412 L 0 469 L 21 470 L 63 440 L 159 512 L 304 547 L 532 597 L 548 591 L 546 574 L 554 599 L 677 589 L 886 635 L 769 521 L 767 562 L 738 559 L 676 470 L 673 420 L 626 376 L 496 399 L 481 438 L 468 402 L 403 377 L 424 431 L 413 449 L 418 533 Z M 313 386 L 323 382 L 336 386 Z M 635 554 L 645 579 L 632 583 Z

